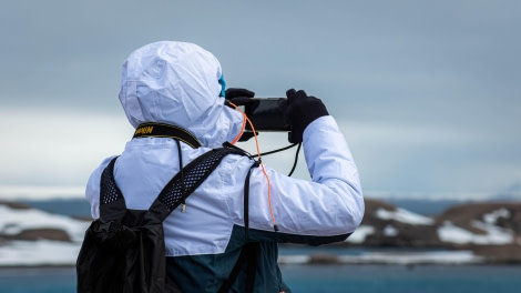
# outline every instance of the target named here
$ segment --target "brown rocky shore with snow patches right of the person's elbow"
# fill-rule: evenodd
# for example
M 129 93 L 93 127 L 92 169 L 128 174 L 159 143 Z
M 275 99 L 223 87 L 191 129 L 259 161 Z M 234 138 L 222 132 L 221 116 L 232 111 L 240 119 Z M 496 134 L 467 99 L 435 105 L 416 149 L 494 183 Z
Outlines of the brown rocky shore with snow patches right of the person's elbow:
M 367 200 L 361 226 L 372 233 L 360 243 L 337 245 L 469 251 L 480 263 L 521 264 L 521 202 L 467 203 L 429 218 L 407 215 L 389 203 Z

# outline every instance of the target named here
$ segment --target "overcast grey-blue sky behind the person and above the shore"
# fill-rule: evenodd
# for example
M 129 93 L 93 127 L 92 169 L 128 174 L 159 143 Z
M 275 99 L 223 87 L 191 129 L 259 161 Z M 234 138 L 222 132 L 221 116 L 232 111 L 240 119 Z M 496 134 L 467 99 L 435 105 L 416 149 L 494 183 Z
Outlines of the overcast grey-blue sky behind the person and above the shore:
M 320 98 L 369 196 L 521 199 L 520 28 L 517 0 L 3 1 L 0 185 L 83 186 L 132 137 L 124 59 L 177 40 L 229 87 Z M 293 155 L 266 162 L 287 172 Z

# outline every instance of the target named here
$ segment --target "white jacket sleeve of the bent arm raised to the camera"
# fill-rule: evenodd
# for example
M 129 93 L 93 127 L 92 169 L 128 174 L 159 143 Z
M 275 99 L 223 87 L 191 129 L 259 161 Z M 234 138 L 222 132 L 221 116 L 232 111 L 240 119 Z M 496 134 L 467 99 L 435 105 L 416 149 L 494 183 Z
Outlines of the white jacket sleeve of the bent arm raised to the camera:
M 273 218 L 280 233 L 333 236 L 353 233 L 364 215 L 357 166 L 331 117 L 304 132 L 304 154 L 311 181 L 292 179 L 266 166 L 272 183 Z M 273 231 L 266 179 L 252 172 L 249 226 Z

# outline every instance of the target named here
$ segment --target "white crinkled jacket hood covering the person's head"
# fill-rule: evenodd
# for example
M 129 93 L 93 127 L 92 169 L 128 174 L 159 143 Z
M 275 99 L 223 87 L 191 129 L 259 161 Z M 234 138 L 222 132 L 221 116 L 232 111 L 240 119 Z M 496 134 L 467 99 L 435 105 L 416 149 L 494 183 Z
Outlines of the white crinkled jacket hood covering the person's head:
M 123 63 L 120 101 L 130 123 L 184 128 L 207 148 L 241 134 L 243 114 L 224 105 L 218 60 L 187 42 L 146 44 Z

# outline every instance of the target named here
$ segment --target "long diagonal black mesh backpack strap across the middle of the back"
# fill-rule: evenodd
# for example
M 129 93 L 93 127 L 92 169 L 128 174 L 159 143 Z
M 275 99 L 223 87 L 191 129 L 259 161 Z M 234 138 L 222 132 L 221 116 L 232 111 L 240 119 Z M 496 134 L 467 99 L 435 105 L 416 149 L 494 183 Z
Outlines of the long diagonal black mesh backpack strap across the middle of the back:
M 149 211 L 159 220 L 164 221 L 208 178 L 223 158 L 231 153 L 244 154 L 231 148 L 218 148 L 194 159 L 163 188 Z

